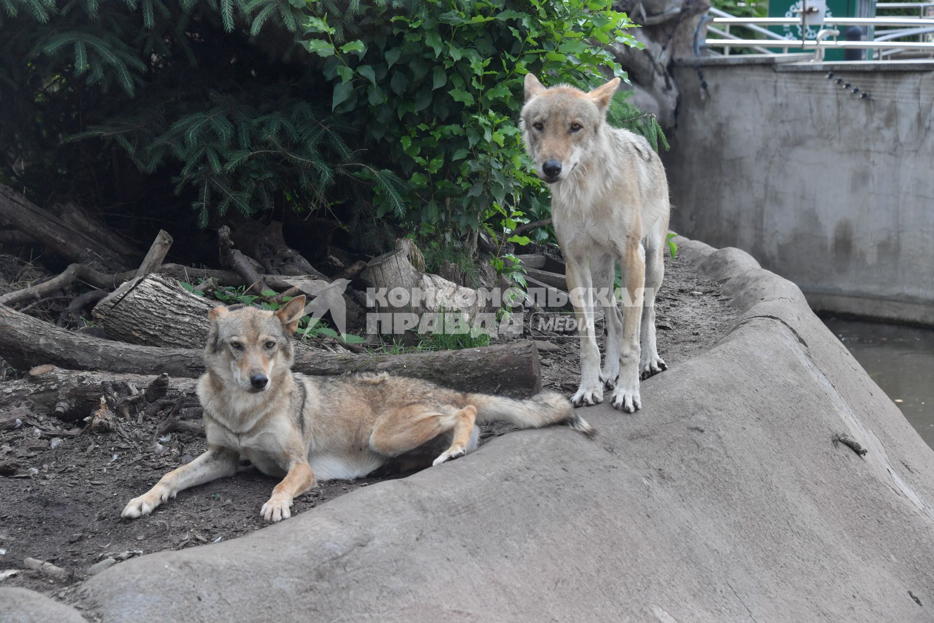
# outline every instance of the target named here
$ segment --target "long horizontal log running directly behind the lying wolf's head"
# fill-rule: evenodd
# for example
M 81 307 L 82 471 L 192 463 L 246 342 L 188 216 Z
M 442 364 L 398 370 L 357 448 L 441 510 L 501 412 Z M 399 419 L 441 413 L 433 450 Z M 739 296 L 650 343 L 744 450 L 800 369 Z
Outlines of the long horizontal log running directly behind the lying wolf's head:
M 205 321 L 206 322 L 206 321 Z M 70 370 L 194 377 L 202 349 L 145 347 L 58 327 L 0 305 L 0 357 L 20 370 L 50 363 Z M 533 342 L 404 355 L 298 352 L 292 369 L 309 375 L 389 372 L 425 378 L 461 391 L 527 396 L 542 388 Z M 151 380 L 151 378 L 149 379 Z

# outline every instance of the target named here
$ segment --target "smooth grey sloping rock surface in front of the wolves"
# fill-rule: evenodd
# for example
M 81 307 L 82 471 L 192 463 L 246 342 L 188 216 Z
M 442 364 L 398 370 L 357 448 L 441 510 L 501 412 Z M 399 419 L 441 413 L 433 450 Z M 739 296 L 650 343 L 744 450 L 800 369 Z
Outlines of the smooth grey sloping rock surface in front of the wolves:
M 934 452 L 794 284 L 676 242 L 742 316 L 645 381 L 635 415 L 587 408 L 596 441 L 510 433 L 128 560 L 80 604 L 104 621 L 930 621 Z

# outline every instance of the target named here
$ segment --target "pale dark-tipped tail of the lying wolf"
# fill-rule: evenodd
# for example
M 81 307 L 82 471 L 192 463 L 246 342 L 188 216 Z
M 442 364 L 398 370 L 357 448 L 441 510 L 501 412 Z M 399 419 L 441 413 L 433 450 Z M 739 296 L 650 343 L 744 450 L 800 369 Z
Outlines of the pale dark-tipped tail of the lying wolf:
M 487 394 L 470 394 L 467 398 L 476 407 L 476 419 L 480 422 L 502 419 L 523 429 L 560 424 L 588 437 L 596 433 L 584 418 L 575 413 L 571 401 L 556 391 L 543 391 L 526 400 Z

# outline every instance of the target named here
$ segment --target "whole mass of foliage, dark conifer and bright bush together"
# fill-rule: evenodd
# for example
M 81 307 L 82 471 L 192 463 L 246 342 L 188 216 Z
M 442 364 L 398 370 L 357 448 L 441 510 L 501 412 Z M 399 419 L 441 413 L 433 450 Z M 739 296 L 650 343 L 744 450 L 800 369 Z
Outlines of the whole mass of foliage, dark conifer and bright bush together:
M 605 47 L 631 26 L 611 0 L 0 0 L 0 182 L 202 225 L 317 210 L 362 247 L 388 222 L 470 258 L 549 213 L 524 76 L 623 76 Z

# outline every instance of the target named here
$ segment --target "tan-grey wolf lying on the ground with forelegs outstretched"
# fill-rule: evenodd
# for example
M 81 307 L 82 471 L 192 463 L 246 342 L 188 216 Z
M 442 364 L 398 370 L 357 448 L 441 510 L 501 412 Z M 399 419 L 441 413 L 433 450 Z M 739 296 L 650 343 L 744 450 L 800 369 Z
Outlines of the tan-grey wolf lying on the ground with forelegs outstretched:
M 292 336 L 303 309 L 299 296 L 276 312 L 239 305 L 210 311 L 207 371 L 198 381 L 208 449 L 131 500 L 123 517 L 149 515 L 178 491 L 233 475 L 241 455 L 282 478 L 260 511 L 279 521 L 316 480 L 359 478 L 396 458 L 440 465 L 473 451 L 477 421 L 593 432 L 550 391 L 513 400 L 386 374 L 293 373 Z

